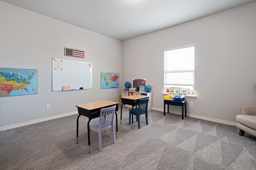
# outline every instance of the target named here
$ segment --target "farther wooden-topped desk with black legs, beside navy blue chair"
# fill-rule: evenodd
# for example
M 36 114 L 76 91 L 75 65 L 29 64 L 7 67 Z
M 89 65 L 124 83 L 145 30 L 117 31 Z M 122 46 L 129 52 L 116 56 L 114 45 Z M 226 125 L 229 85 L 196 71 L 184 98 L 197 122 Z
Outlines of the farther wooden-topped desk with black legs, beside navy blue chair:
M 122 106 L 121 106 L 121 122 L 120 125 L 122 125 L 122 107 L 124 104 L 132 105 L 132 129 L 133 129 L 133 107 L 138 104 L 138 100 L 148 98 L 148 96 L 140 96 L 140 95 L 133 95 L 133 96 L 125 96 L 121 97 L 122 100 Z M 147 108 L 148 109 L 148 108 Z

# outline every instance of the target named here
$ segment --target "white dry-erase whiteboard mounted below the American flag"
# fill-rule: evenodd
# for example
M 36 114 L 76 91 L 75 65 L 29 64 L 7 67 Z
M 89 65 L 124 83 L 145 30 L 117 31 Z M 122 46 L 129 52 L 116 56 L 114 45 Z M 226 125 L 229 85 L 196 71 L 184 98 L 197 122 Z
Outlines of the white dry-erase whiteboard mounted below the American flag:
M 71 90 L 92 88 L 92 63 L 52 59 L 52 91 L 62 91 L 62 86 Z

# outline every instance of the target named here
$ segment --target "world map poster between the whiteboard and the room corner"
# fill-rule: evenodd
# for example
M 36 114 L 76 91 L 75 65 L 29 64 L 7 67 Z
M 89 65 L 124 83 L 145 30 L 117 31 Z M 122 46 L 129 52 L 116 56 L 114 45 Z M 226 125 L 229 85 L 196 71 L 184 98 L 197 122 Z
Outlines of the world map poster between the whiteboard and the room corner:
M 101 89 L 105 88 L 119 88 L 119 73 L 101 73 Z

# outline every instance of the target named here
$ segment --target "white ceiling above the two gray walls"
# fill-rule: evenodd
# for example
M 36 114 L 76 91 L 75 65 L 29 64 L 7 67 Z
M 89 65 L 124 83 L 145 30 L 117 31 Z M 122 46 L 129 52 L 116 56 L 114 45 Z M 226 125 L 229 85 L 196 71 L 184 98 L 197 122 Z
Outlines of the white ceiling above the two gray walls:
M 256 0 L 1 0 L 121 41 Z

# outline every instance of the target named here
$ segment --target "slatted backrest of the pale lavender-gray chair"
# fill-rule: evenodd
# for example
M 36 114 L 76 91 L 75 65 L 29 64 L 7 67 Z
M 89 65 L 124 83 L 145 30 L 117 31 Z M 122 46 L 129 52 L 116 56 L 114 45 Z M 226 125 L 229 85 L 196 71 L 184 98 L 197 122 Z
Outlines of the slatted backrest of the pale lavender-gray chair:
M 99 128 L 103 129 L 114 124 L 114 116 L 116 111 L 116 105 L 104 109 L 100 109 L 100 121 Z

